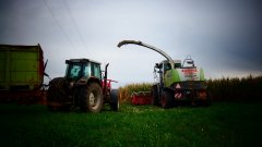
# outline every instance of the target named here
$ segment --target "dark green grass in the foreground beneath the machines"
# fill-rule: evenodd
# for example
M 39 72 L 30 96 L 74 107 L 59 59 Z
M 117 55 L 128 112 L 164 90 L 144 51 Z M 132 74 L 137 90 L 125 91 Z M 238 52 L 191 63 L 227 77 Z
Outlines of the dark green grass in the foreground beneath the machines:
M 262 103 L 213 103 L 163 110 L 121 105 L 119 112 L 49 112 L 0 105 L 0 146 L 262 146 Z

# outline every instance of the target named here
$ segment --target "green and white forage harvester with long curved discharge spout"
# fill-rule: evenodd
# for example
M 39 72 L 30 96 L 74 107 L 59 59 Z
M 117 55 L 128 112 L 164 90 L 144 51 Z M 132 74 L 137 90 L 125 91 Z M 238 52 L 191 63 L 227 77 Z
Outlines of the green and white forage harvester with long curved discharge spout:
M 120 41 L 118 47 L 128 44 L 146 47 L 166 58 L 154 68 L 157 82 L 152 87 L 152 105 L 163 108 L 181 103 L 210 105 L 203 69 L 196 68 L 190 56 L 181 63 L 180 60 L 172 60 L 163 50 L 136 40 Z

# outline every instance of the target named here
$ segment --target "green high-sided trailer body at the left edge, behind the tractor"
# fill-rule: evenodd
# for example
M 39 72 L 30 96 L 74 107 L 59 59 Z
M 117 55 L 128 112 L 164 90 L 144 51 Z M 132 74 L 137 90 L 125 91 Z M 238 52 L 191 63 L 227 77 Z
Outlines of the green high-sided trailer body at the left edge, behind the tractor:
M 39 45 L 0 45 L 0 98 L 36 97 L 44 81 Z

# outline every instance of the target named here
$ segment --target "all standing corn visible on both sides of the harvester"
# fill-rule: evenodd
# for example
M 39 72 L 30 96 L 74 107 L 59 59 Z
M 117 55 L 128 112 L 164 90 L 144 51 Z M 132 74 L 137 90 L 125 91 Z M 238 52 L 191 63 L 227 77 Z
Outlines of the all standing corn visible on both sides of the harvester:
M 262 98 L 262 75 L 209 79 L 207 90 L 213 101 L 257 101 Z M 120 100 L 131 102 L 136 91 L 151 91 L 152 83 L 129 84 L 119 88 Z

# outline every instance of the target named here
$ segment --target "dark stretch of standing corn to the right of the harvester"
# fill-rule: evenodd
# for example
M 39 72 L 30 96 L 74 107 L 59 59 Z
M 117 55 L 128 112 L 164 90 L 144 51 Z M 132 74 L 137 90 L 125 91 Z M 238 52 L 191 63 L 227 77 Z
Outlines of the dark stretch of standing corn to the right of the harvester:
M 262 76 L 209 79 L 207 86 L 215 101 L 257 101 L 262 97 Z

